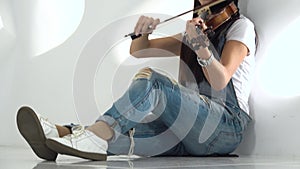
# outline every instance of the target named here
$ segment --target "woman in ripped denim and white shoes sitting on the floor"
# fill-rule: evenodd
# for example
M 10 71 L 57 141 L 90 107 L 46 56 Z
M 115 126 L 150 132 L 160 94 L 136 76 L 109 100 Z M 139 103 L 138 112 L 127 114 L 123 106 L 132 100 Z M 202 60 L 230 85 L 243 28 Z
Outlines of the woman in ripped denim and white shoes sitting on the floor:
M 196 0 L 195 6 L 214 1 Z M 216 11 L 223 8 L 216 6 Z M 180 55 L 179 82 L 152 68 L 142 69 L 125 94 L 86 128 L 54 125 L 22 107 L 17 115 L 19 131 L 40 158 L 55 160 L 60 153 L 106 160 L 107 154 L 128 152 L 215 156 L 237 148 L 251 121 L 253 23 L 237 10 L 211 34 L 204 20 L 194 15 L 184 34 L 149 40 L 159 22 L 140 17 L 134 32 L 142 36 L 133 39 L 130 53 L 137 58 Z M 150 116 L 154 118 L 149 120 Z

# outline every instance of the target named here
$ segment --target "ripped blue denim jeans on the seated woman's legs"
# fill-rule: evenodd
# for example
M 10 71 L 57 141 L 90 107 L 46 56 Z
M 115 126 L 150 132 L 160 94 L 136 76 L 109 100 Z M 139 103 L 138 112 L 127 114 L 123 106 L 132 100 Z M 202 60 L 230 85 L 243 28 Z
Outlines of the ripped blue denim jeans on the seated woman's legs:
M 140 156 L 207 156 L 233 152 L 250 120 L 145 68 L 97 121 L 114 129 L 108 154 L 127 154 L 134 143 L 133 153 Z

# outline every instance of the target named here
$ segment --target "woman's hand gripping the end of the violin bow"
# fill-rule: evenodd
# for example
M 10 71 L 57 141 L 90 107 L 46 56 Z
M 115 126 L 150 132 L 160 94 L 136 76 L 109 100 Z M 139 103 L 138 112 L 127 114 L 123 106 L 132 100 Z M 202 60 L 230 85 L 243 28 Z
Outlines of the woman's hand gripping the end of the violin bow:
M 159 19 L 154 19 L 152 17 L 142 15 L 134 28 L 134 33 L 136 36 L 150 34 L 159 23 Z

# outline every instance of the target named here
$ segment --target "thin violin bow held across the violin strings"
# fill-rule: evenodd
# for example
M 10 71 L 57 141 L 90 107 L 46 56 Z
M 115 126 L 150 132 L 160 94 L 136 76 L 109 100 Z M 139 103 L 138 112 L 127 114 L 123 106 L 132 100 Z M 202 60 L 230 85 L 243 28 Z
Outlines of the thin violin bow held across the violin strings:
M 210 12 L 210 8 L 211 8 L 212 6 L 215 6 L 215 5 L 217 5 L 217 4 L 219 4 L 219 3 L 222 3 L 222 2 L 225 2 L 225 1 L 226 1 L 226 0 L 217 0 L 217 1 L 214 1 L 214 2 L 211 2 L 211 3 L 208 3 L 208 4 L 206 4 L 206 5 L 201 5 L 201 6 L 195 7 L 194 9 L 188 10 L 188 11 L 186 11 L 186 12 L 183 12 L 183 13 L 179 14 L 179 15 L 176 15 L 176 16 L 173 16 L 173 17 L 171 17 L 171 18 L 168 18 L 168 19 L 166 19 L 166 20 L 164 20 L 164 21 L 158 23 L 157 25 L 160 25 L 160 24 L 169 22 L 169 21 L 171 21 L 171 20 L 173 20 L 173 19 L 176 19 L 176 18 L 178 18 L 178 17 L 180 17 L 180 16 L 183 16 L 183 15 L 188 14 L 188 13 L 193 12 L 193 11 L 194 11 L 195 13 L 197 12 L 198 15 L 199 15 L 200 13 L 202 13 L 203 11 L 208 11 L 208 12 Z M 125 37 L 128 37 L 128 36 L 130 36 L 131 39 L 133 40 L 133 39 L 136 39 L 136 38 L 140 37 L 141 35 L 135 35 L 135 33 L 132 32 L 132 33 L 129 33 L 129 34 L 125 35 Z

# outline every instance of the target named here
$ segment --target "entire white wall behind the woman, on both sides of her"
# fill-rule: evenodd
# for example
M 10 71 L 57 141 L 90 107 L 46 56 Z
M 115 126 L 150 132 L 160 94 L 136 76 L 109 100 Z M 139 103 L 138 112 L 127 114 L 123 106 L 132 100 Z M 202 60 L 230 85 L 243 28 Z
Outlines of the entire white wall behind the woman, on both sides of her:
M 140 67 L 155 65 L 176 77 L 177 59 L 130 58 L 130 40 L 122 37 L 131 32 L 142 13 L 166 18 L 191 8 L 192 3 L 0 0 L 4 23 L 0 30 L 0 132 L 6 133 L 0 145 L 27 146 L 15 123 L 21 105 L 30 105 L 57 123 L 90 123 L 125 90 Z M 255 22 L 260 36 L 251 96 L 254 122 L 238 150 L 241 154 L 300 155 L 296 131 L 300 128 L 300 81 L 295 45 L 299 35 L 290 34 L 300 27 L 299 5 L 297 0 L 240 2 L 242 12 Z M 177 22 L 181 27 L 170 24 L 154 34 L 182 31 L 183 21 Z

